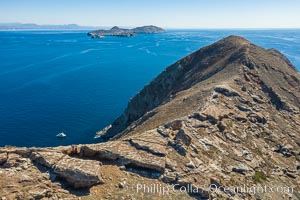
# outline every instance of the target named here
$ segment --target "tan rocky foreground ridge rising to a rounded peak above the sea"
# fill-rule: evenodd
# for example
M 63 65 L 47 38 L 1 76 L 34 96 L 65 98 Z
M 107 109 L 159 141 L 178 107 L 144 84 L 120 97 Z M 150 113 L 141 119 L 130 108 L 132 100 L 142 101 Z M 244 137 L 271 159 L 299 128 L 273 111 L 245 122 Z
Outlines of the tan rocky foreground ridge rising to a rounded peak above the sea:
M 299 199 L 299 86 L 280 52 L 229 36 L 145 86 L 105 143 L 1 148 L 0 197 Z

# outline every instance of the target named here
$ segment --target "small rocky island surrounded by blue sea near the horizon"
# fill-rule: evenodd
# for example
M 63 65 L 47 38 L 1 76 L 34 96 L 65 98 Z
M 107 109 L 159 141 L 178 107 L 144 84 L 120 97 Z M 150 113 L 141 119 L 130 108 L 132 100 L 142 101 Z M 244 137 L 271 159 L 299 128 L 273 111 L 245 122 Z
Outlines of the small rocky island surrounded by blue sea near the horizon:
M 164 33 L 164 32 L 166 32 L 164 29 L 153 25 L 141 26 L 133 29 L 125 29 L 125 28 L 119 28 L 117 26 L 114 26 L 109 30 L 100 29 L 100 30 L 88 32 L 88 36 L 91 36 L 92 38 L 103 38 L 107 35 L 118 36 L 118 37 L 132 37 L 132 36 L 136 36 L 137 34 L 154 34 L 154 33 Z

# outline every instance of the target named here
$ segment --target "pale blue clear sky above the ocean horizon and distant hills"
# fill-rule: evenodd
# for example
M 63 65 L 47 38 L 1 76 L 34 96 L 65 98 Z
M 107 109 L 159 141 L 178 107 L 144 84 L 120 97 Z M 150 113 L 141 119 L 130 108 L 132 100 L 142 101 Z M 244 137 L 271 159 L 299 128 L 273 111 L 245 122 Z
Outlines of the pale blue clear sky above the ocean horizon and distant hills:
M 0 23 L 300 28 L 300 0 L 0 0 Z

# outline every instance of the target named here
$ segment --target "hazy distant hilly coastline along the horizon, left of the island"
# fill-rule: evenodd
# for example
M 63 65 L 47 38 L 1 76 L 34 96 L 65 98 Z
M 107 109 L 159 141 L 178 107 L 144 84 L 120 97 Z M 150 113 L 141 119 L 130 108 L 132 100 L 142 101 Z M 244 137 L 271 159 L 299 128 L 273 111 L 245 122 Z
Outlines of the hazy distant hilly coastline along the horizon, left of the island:
M 34 23 L 0 23 L 0 30 L 94 30 L 97 28 L 101 27 L 80 26 L 77 24 L 39 25 Z

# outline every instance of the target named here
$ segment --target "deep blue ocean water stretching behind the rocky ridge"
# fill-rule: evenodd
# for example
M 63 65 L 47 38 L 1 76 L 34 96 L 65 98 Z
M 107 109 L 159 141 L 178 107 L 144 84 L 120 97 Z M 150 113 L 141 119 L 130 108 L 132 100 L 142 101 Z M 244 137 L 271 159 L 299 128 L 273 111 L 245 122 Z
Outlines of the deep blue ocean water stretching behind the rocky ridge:
M 0 32 L 0 146 L 99 142 L 95 133 L 165 67 L 228 35 L 300 67 L 300 30 L 170 30 L 91 39 L 86 31 Z M 56 134 L 68 136 L 59 139 Z

